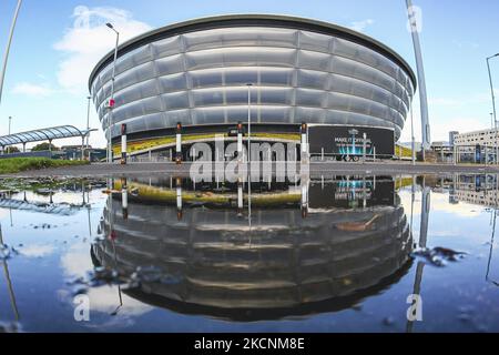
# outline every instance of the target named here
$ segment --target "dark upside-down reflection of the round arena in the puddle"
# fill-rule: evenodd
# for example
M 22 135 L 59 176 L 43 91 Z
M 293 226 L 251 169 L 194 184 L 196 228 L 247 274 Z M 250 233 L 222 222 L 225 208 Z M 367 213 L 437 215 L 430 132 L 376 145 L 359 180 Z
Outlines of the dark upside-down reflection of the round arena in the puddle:
M 410 265 L 411 235 L 397 195 L 365 209 L 322 206 L 305 219 L 299 203 L 254 209 L 251 227 L 230 209 L 191 207 L 179 220 L 174 206 L 140 196 L 128 215 L 119 199 L 108 202 L 102 229 L 114 242 L 94 245 L 94 262 L 125 275 L 138 266 L 152 271 L 126 293 L 181 313 L 256 321 L 343 310 Z

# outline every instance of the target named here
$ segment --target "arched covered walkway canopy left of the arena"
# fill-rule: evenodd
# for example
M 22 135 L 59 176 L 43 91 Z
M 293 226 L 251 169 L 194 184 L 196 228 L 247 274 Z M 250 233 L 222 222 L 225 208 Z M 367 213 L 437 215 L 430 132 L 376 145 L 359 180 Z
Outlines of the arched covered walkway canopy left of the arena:
M 28 132 L 14 133 L 0 136 L 0 146 L 3 149 L 8 145 L 49 141 L 57 139 L 80 136 L 82 140 L 95 130 L 79 130 L 73 125 L 60 125 L 48 129 L 33 130 Z

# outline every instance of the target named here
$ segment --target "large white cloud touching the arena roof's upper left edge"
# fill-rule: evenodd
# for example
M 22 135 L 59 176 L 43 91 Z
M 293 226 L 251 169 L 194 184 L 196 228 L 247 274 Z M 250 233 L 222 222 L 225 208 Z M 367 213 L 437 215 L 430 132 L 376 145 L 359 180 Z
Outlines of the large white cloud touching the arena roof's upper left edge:
M 151 27 L 133 19 L 129 11 L 109 8 L 77 7 L 73 11 L 73 27 L 67 29 L 54 49 L 64 54 L 59 64 L 58 81 L 65 90 L 86 91 L 86 83 L 93 67 L 114 49 L 115 34 L 105 27 L 112 22 L 120 32 L 120 42 L 149 31 Z

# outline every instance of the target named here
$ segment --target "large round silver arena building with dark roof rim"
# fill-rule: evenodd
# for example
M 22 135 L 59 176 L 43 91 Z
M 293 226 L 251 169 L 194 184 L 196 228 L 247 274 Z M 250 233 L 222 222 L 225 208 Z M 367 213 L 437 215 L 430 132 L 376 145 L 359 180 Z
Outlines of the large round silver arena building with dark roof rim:
M 105 132 L 113 54 L 89 81 Z M 366 135 L 368 154 L 391 158 L 415 89 L 413 70 L 395 51 L 332 23 L 261 14 L 186 21 L 120 45 L 113 151 L 119 155 L 123 124 L 136 159 L 171 159 L 177 123 L 184 154 L 190 142 L 234 140 L 249 108 L 254 142 L 299 142 L 307 123 L 312 154 L 358 154 Z

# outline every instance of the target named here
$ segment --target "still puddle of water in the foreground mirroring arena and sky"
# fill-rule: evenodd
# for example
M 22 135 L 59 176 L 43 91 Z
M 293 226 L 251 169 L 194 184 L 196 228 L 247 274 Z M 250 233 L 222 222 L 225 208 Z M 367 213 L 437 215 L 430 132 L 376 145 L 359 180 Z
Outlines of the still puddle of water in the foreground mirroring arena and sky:
M 493 175 L 0 190 L 0 329 L 499 332 Z

